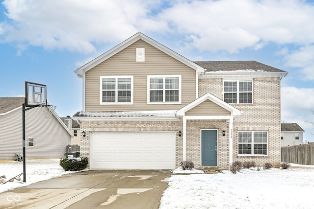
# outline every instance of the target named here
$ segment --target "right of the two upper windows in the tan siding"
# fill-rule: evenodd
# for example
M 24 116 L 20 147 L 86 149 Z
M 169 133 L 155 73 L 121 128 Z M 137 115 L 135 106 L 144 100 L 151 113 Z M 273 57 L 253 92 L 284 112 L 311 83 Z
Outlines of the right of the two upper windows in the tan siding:
M 181 75 L 149 75 L 147 89 L 149 104 L 181 104 Z

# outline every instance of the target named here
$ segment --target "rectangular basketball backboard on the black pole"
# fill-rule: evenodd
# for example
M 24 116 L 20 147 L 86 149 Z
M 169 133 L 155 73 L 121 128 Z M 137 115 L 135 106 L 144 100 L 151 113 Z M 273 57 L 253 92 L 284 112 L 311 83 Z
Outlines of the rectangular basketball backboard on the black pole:
M 25 81 L 25 106 L 47 105 L 46 85 Z

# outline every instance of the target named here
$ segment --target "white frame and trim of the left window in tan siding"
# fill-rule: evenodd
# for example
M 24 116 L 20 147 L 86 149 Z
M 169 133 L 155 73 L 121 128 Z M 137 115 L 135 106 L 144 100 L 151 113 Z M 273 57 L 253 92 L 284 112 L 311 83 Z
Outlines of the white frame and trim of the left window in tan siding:
M 100 76 L 100 92 L 99 92 L 99 104 L 100 105 L 132 105 L 133 104 L 133 75 L 101 75 Z M 103 100 L 103 79 L 104 78 L 114 78 L 115 79 L 115 102 L 102 102 Z M 118 78 L 131 78 L 131 102 L 118 102 Z M 113 91 L 113 90 L 112 90 Z M 123 90 L 120 90 L 123 91 Z M 130 91 L 130 90 L 128 90 Z

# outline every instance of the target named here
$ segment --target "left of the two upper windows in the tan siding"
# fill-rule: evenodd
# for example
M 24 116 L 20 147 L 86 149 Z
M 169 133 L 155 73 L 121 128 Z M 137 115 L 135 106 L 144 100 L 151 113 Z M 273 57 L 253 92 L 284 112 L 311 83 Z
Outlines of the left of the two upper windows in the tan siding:
M 133 104 L 133 76 L 100 76 L 100 104 Z

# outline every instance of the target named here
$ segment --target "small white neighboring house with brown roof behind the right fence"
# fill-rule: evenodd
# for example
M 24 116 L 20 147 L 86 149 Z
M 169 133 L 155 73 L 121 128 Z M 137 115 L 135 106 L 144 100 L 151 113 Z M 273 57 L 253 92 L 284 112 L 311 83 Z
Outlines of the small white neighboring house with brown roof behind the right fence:
M 303 144 L 305 131 L 297 123 L 281 124 L 281 146 L 293 146 Z

